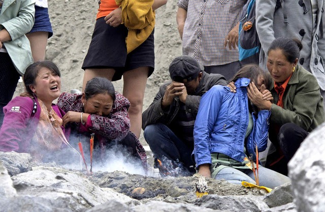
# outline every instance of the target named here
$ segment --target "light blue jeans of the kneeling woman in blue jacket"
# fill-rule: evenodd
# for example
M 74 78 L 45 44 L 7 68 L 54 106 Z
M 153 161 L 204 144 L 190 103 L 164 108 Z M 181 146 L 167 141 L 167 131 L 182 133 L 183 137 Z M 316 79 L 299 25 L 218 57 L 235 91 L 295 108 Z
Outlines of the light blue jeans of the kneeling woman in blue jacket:
M 251 169 L 236 169 L 233 167 L 225 167 L 222 168 L 220 172 L 218 172 L 215 179 L 224 179 L 227 182 L 240 185 L 242 181 L 256 184 L 254 173 L 251 171 Z M 263 166 L 258 167 L 258 179 L 260 186 L 265 186 L 272 189 L 282 184 L 291 182 L 290 178 Z

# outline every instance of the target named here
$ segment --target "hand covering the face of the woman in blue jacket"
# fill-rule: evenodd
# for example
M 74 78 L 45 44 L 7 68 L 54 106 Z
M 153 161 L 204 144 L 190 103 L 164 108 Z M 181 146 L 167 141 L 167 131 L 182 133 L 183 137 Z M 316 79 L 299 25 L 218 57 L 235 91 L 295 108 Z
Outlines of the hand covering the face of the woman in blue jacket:
M 261 90 L 263 90 L 263 88 Z M 268 97 L 271 94 L 271 92 L 270 94 L 268 94 L 269 91 L 268 92 L 266 91 L 268 90 L 264 90 L 263 92 Z M 248 99 L 260 110 L 269 110 L 272 106 L 272 102 L 270 100 L 265 100 L 263 98 L 263 94 L 257 89 L 254 82 L 249 83 L 249 86 L 247 87 L 247 96 Z

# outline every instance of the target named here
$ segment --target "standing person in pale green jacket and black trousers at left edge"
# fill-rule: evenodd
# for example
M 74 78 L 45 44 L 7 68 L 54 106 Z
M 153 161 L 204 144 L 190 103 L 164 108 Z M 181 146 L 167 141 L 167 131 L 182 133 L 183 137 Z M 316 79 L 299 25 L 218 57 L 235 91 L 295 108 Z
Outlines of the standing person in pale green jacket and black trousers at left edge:
M 0 0 L 0 126 L 20 75 L 33 63 L 25 36 L 34 24 L 35 0 Z

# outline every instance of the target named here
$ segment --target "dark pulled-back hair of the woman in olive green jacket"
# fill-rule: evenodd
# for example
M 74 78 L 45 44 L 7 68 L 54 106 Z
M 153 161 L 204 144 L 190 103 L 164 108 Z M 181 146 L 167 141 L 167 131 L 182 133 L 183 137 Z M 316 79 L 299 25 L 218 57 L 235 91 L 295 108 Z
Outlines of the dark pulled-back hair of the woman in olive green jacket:
M 294 63 L 300 56 L 300 50 L 303 48 L 301 41 L 297 38 L 278 37 L 271 43 L 268 55 L 271 50 L 281 50 L 287 61 Z

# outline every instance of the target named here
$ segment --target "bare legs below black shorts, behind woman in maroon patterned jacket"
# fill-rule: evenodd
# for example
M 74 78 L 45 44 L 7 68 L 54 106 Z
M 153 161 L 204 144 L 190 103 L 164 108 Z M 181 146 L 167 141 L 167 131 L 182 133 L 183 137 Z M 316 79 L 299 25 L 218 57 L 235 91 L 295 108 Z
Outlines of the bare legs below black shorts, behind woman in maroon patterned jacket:
M 131 131 L 140 137 L 142 126 L 142 106 L 146 89 L 149 67 L 139 67 L 123 73 L 123 96 L 131 103 L 128 114 L 131 121 Z M 83 77 L 82 90 L 88 80 L 100 76 L 112 80 L 114 69 L 86 69 Z

